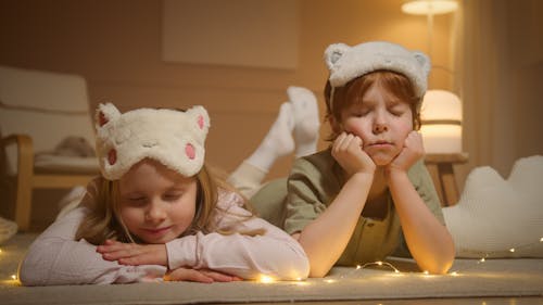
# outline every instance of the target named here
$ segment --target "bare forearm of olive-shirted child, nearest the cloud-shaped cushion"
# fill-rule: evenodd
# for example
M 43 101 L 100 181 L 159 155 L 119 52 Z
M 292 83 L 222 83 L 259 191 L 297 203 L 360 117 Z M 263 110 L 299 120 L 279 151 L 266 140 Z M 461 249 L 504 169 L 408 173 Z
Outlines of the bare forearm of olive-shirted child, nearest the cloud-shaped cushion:
M 426 206 L 405 171 L 389 173 L 389 188 L 417 265 L 431 274 L 445 274 L 455 254 L 447 229 Z

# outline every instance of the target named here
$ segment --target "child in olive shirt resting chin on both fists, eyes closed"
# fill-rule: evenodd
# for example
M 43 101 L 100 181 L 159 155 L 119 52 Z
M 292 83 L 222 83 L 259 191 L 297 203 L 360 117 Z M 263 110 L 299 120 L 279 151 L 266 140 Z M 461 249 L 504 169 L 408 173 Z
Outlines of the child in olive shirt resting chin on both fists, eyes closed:
M 429 59 L 381 41 L 331 45 L 325 59 L 333 142 L 298 158 L 287 183 L 262 188 L 255 209 L 299 240 L 311 277 L 382 260 L 404 244 L 422 270 L 446 272 L 454 244 L 415 131 Z

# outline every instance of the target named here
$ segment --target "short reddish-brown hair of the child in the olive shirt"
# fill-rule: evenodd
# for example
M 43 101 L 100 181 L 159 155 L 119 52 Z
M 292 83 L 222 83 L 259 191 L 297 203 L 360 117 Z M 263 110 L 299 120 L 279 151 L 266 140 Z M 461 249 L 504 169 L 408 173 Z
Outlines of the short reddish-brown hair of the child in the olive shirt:
M 330 81 L 327 80 L 325 86 L 325 118 L 328 122 L 330 122 L 330 119 L 341 122 L 341 112 L 352 104 L 362 102 L 362 98 L 375 82 L 381 84 L 390 93 L 409 104 L 413 114 L 413 128 L 418 130 L 420 128 L 419 107 L 421 97 L 415 94 L 415 88 L 407 77 L 391 71 L 375 71 L 350 80 L 343 87 L 333 88 L 332 101 L 330 101 L 332 88 Z M 338 135 L 332 130 L 332 134 L 327 140 L 331 141 L 336 139 L 336 137 L 338 137 Z

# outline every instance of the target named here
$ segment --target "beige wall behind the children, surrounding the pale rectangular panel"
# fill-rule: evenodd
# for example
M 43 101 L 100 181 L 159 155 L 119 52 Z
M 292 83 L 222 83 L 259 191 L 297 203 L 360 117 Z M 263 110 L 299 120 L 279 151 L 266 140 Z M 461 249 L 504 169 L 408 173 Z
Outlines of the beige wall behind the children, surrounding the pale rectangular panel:
M 91 109 L 101 101 L 123 111 L 203 104 L 212 116 L 209 160 L 231 170 L 256 148 L 288 86 L 312 89 L 321 103 L 321 59 L 329 43 L 382 39 L 426 51 L 426 18 L 403 14 L 402 2 L 299 0 L 298 68 L 275 69 L 163 62 L 162 1 L 7 0 L 0 2 L 0 64 L 80 74 Z M 432 55 L 439 65 L 450 65 L 451 21 L 434 18 Z M 430 87 L 446 89 L 450 81 L 438 71 Z M 270 176 L 283 175 L 290 162 L 282 158 Z

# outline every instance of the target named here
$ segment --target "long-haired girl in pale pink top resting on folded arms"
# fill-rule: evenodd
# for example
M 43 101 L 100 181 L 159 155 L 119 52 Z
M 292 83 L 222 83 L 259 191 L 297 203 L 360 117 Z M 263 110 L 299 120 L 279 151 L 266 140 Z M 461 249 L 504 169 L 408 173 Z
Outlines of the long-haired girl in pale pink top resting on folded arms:
M 97 111 L 102 176 L 31 244 L 25 285 L 306 278 L 300 244 L 204 164 L 207 112 Z

